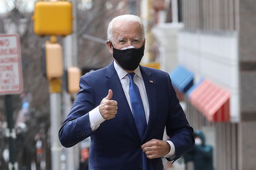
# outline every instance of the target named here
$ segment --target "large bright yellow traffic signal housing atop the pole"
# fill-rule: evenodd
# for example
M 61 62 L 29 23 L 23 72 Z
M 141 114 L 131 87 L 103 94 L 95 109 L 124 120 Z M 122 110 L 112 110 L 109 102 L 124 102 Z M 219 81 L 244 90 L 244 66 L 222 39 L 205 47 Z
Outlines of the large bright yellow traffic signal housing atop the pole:
M 38 1 L 32 19 L 37 35 L 68 35 L 72 33 L 72 4 L 69 1 Z

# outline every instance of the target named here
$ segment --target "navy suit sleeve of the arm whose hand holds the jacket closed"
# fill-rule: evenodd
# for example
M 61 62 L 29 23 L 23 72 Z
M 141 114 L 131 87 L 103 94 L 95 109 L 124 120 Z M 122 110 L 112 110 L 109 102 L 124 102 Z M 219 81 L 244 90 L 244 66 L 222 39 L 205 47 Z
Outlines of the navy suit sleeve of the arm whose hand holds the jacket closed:
M 175 161 L 194 146 L 194 130 L 189 125 L 186 115 L 180 106 L 180 102 L 172 86 L 171 78 L 168 73 L 166 74 L 169 88 L 169 113 L 166 122 L 166 134 L 170 137 L 168 140 L 172 141 L 175 146 Z M 166 159 L 171 161 L 171 159 Z

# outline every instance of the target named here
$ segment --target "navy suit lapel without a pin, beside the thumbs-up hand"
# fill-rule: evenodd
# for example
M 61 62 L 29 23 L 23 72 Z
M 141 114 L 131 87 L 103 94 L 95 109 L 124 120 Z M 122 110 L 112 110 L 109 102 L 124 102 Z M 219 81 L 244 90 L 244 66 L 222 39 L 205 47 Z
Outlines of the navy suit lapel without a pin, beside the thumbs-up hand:
M 109 78 L 106 80 L 106 84 L 108 88 L 113 91 L 113 99 L 117 101 L 117 106 L 118 106 L 117 114 L 123 114 L 132 132 L 140 140 L 139 132 L 136 128 L 131 109 L 125 97 L 124 90 L 119 80 L 119 77 L 116 73 L 113 61 L 106 68 L 106 77 Z M 118 93 L 115 93 L 115 92 L 118 92 Z

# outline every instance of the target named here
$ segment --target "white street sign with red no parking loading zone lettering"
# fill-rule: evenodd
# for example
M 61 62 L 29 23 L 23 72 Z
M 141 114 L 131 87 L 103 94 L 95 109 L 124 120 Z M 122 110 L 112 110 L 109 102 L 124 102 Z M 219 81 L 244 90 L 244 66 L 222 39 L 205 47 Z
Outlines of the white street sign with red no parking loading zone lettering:
M 23 91 L 18 34 L 0 34 L 0 95 Z

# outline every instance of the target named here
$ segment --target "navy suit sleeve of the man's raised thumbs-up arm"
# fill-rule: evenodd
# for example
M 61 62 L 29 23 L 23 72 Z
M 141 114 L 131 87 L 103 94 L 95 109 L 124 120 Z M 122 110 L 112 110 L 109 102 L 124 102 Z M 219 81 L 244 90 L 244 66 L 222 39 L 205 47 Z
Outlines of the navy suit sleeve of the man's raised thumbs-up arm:
M 64 147 L 72 147 L 92 134 L 89 111 L 95 107 L 93 89 L 85 76 L 80 78 L 79 87 L 76 101 L 59 130 Z

